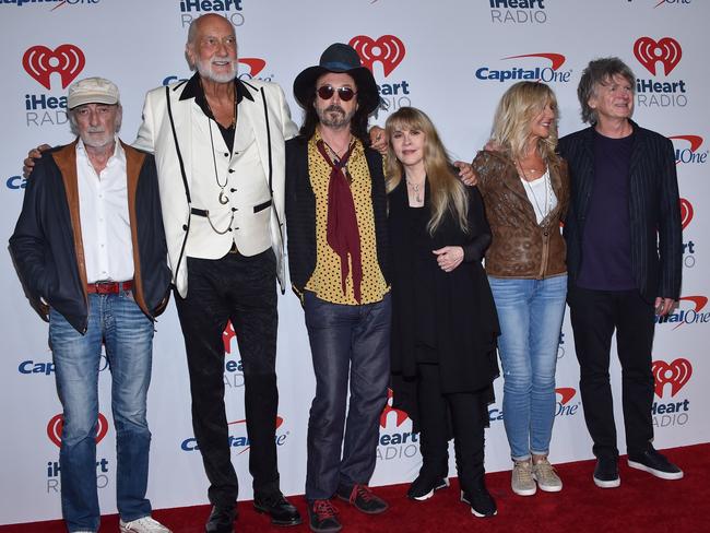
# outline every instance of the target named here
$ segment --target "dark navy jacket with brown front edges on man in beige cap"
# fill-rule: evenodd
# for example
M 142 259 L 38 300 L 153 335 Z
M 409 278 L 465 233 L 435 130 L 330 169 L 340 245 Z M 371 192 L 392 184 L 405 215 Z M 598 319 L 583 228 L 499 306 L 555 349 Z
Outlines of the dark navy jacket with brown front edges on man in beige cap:
M 133 297 L 153 318 L 170 285 L 155 161 L 122 144 L 133 242 Z M 79 218 L 76 141 L 43 154 L 27 179 L 22 212 L 10 238 L 17 274 L 32 306 L 48 320 L 49 306 L 83 333 L 87 328 L 86 268 Z

